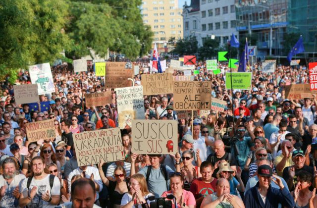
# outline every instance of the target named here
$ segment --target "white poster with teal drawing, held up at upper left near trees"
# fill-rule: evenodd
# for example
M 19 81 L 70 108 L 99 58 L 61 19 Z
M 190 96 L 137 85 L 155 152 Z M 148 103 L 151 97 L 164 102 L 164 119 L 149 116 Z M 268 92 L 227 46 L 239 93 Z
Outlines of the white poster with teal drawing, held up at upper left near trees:
M 29 66 L 29 72 L 31 83 L 38 85 L 39 95 L 55 92 L 50 63 Z

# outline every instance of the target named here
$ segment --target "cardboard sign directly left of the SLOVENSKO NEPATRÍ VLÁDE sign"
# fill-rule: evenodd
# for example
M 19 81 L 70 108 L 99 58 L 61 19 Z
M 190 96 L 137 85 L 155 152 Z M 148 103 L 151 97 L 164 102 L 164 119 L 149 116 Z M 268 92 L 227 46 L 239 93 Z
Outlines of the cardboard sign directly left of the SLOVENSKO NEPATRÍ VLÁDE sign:
M 142 74 L 143 95 L 173 93 L 173 76 L 170 73 Z

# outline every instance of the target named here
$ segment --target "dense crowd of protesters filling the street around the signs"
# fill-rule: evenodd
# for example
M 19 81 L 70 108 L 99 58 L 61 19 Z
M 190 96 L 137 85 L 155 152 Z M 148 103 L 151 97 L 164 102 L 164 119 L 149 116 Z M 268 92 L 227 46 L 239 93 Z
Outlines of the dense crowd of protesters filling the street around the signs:
M 147 62 L 135 62 L 141 74 Z M 278 66 L 263 73 L 254 64 L 252 87 L 225 87 L 225 73 L 207 71 L 222 112 L 178 119 L 173 94 L 144 96 L 146 119 L 178 121 L 175 155 L 138 155 L 130 128 L 121 130 L 124 160 L 78 166 L 73 134 L 118 126 L 114 89 L 106 89 L 92 63 L 74 73 L 67 63 L 52 67 L 55 92 L 40 95 L 49 110 L 16 104 L 13 85 L 0 83 L 0 207 L 18 208 L 316 208 L 317 97 L 290 100 L 285 86 L 308 83 L 304 66 Z M 173 75 L 183 75 L 174 71 Z M 21 71 L 16 85 L 30 84 Z M 85 94 L 111 91 L 112 102 L 86 107 Z M 53 119 L 56 137 L 29 142 L 26 125 Z M 159 200 L 158 200 L 159 199 Z

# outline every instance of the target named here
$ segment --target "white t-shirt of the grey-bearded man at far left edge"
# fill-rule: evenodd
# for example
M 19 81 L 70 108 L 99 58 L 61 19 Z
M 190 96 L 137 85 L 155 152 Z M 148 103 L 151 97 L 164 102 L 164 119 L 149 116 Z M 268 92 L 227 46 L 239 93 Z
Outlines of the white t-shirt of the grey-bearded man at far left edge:
M 14 206 L 14 200 L 16 199 L 13 195 L 12 192 L 15 189 L 16 186 L 19 186 L 19 189 L 21 189 L 21 183 L 22 180 L 25 179 L 25 175 L 23 174 L 18 174 L 14 176 L 13 180 L 11 181 L 10 185 L 6 183 L 4 180 L 3 176 L 0 175 L 0 187 L 6 186 L 4 197 L 2 197 L 0 201 L 0 208 L 15 208 Z M 16 199 L 18 200 L 18 199 Z M 19 206 L 16 206 L 16 208 Z

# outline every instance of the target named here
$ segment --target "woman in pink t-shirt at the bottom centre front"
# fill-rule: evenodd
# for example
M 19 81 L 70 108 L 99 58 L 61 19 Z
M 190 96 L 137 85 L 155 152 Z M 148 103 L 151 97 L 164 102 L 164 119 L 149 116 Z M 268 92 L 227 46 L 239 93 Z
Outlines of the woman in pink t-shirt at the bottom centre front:
M 177 208 L 195 208 L 196 200 L 192 192 L 183 189 L 184 179 L 179 172 L 169 174 L 170 191 L 163 192 L 161 197 L 167 197 L 173 195 L 176 199 L 172 201 L 172 207 Z M 169 200 L 169 199 L 165 199 Z M 176 200 L 176 206 L 175 206 Z

